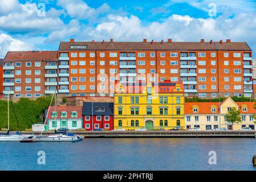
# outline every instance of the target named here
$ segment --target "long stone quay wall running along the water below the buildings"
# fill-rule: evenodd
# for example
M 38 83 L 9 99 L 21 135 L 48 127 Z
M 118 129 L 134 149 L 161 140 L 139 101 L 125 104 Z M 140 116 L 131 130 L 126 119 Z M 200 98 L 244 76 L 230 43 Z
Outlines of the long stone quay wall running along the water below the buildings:
M 23 131 L 23 134 L 39 135 L 38 131 Z M 53 134 L 46 131 L 44 135 Z M 255 138 L 255 131 L 72 131 L 83 138 Z

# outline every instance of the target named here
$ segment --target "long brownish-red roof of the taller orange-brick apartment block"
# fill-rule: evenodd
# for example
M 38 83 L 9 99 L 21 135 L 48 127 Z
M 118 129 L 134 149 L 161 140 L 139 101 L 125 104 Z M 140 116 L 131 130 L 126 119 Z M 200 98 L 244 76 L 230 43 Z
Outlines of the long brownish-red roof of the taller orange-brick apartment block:
M 59 50 L 87 46 L 86 50 L 237 50 L 251 51 L 246 42 L 60 42 Z M 84 50 L 84 49 L 82 49 Z

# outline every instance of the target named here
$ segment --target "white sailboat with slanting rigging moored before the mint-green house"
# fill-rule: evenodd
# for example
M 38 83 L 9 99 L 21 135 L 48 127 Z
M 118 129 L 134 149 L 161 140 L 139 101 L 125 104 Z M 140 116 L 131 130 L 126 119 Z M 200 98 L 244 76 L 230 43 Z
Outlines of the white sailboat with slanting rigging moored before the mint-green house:
M 51 98 L 51 103 L 52 103 L 52 99 L 55 97 L 55 109 L 54 111 L 56 112 L 56 92 L 55 94 L 52 96 Z M 47 116 L 49 114 L 50 111 L 50 107 L 51 104 L 49 106 L 49 109 L 47 111 L 46 114 L 46 119 L 44 121 L 44 126 L 46 125 L 46 121 L 47 121 Z M 77 135 L 74 135 L 72 133 L 66 133 L 66 131 L 56 131 L 56 114 L 54 116 L 54 123 L 55 123 L 55 134 L 54 135 L 48 135 L 48 136 L 42 136 L 43 131 L 41 132 L 40 136 L 37 137 L 38 140 L 40 140 L 41 142 L 78 142 L 83 140 L 82 137 L 79 137 Z

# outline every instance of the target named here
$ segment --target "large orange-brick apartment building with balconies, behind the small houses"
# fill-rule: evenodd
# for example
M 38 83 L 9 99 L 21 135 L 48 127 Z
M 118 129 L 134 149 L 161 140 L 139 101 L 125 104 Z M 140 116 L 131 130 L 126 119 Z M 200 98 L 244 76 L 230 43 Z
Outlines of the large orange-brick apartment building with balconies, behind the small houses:
M 188 97 L 252 97 L 251 55 L 245 42 L 230 39 L 220 42 L 70 39 L 60 42 L 59 51 L 8 52 L 3 60 L 3 93 L 38 97 L 56 89 L 66 96 L 113 96 L 115 81 L 132 84 L 137 80 L 182 80 Z

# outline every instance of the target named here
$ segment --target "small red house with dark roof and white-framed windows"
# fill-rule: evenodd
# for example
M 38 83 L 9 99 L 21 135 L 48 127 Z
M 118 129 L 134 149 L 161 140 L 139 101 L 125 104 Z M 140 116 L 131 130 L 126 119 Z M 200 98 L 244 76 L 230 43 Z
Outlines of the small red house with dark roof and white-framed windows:
M 113 130 L 113 102 L 84 102 L 83 128 Z

